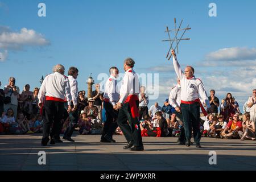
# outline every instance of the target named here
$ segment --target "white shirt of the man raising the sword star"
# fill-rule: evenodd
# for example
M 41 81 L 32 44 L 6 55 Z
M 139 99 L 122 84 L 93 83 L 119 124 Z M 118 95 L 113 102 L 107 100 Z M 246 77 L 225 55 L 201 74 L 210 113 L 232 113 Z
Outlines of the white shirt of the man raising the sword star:
M 197 98 L 201 98 L 207 107 L 210 108 L 210 103 L 203 82 L 198 78 L 195 78 L 195 76 L 190 79 L 186 78 L 183 71 L 181 71 L 176 56 L 173 56 L 173 61 L 176 75 L 180 79 L 181 100 L 189 102 L 195 101 Z

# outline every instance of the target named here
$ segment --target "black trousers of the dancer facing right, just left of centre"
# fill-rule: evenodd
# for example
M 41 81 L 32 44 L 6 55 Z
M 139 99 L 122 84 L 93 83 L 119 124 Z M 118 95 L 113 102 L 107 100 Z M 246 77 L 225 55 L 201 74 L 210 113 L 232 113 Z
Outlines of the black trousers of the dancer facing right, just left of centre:
M 104 139 L 105 135 L 113 137 L 115 130 L 117 129 L 117 117 L 118 111 L 114 110 L 113 105 L 110 102 L 103 102 L 104 109 L 106 110 L 106 122 L 104 123 L 101 139 Z

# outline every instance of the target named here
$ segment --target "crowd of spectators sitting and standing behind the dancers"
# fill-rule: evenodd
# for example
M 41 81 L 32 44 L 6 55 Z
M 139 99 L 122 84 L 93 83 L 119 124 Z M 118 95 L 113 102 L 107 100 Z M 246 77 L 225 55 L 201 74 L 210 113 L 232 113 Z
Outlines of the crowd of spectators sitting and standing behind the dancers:
M 0 89 L 0 133 L 1 134 L 32 134 L 42 133 L 43 117 L 38 106 L 39 88 L 30 91 L 30 85 L 26 84 L 23 91 L 15 85 L 15 78 L 9 78 L 9 84 Z M 0 86 L 1 86 L 0 82 Z M 100 84 L 95 85 L 92 98 L 85 97 L 85 91 L 79 91 L 77 103 L 76 128 L 81 135 L 101 134 L 105 121 L 105 110 L 102 106 L 104 100 L 100 91 Z M 148 109 L 148 95 L 146 88 L 141 87 L 139 94 L 139 121 L 143 137 L 177 137 L 181 132 L 183 123 L 175 114 L 175 108 L 168 101 L 159 106 L 155 102 Z M 256 90 L 253 96 L 243 105 L 242 114 L 240 106 L 231 93 L 226 94 L 220 100 L 215 96 L 215 91 L 210 90 L 208 97 L 213 113 L 201 117 L 202 137 L 214 137 L 223 139 L 250 139 L 255 140 L 256 121 Z M 69 125 L 69 114 L 63 116 L 64 133 Z M 122 134 L 117 128 L 116 134 Z

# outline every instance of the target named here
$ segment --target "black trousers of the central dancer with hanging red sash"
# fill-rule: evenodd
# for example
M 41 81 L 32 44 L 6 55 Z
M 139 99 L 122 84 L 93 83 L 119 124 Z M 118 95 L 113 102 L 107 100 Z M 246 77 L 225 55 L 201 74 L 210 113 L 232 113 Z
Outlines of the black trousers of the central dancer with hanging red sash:
M 136 104 L 138 107 L 139 101 L 136 101 Z M 129 103 L 123 104 L 119 109 L 117 123 L 125 135 L 127 142 L 133 142 L 135 147 L 143 146 L 139 121 L 137 117 L 132 117 Z

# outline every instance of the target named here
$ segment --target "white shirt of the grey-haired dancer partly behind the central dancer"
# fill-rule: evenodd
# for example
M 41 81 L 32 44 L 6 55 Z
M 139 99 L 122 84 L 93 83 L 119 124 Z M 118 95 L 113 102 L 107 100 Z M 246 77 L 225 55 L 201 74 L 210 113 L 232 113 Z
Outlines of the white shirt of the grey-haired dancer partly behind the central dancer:
M 105 84 L 104 98 L 108 98 L 109 102 L 114 106 L 119 100 L 119 89 L 117 86 L 117 80 L 114 76 L 110 75 L 108 81 Z

